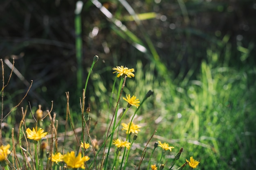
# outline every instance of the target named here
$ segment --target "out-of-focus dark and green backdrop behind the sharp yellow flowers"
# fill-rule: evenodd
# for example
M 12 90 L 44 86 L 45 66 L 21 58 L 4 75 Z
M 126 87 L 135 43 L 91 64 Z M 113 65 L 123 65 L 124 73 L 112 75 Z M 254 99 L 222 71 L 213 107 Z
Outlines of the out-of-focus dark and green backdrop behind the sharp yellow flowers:
M 65 115 L 68 91 L 79 113 L 98 55 L 86 92 L 92 121 L 99 123 L 97 116 L 111 107 L 112 68 L 125 65 L 135 68 L 125 94 L 142 100 L 154 91 L 137 117 L 150 127 L 138 139 L 141 146 L 157 127 L 153 142 L 170 142 L 175 152 L 184 148 L 180 164 L 193 155 L 202 170 L 255 169 L 254 0 L 84 0 L 81 13 L 75 9 L 74 0 L 0 2 L 5 81 L 12 58 L 17 69 L 5 89 L 4 113 L 22 99 L 30 80 L 22 107 L 29 101 L 49 109 L 53 100 L 54 111 Z

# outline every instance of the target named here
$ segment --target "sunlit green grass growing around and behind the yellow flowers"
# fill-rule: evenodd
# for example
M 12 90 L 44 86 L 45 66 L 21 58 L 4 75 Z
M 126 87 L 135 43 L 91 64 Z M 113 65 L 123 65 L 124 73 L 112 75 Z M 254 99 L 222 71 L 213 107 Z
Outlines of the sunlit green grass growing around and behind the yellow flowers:
M 65 156 L 66 163 L 56 158 L 60 162 L 52 164 L 49 155 L 57 152 L 65 155 L 74 151 L 75 155 L 82 153 L 77 161 L 86 163 L 79 162 L 77 167 L 85 169 L 131 168 L 134 166 L 144 169 L 150 168 L 151 165 L 153 168 L 164 166 L 166 169 L 177 169 L 184 166 L 185 169 L 189 169 L 185 166 L 189 163 L 186 159 L 189 160 L 192 155 L 194 159 L 200 161 L 197 167 L 199 169 L 242 167 L 243 163 L 240 159 L 248 159 L 248 155 L 255 153 L 255 150 L 250 149 L 250 146 L 255 144 L 252 138 L 252 126 L 255 126 L 252 120 L 255 117 L 250 114 L 254 110 L 255 97 L 251 97 L 254 88 L 247 84 L 248 78 L 253 77 L 255 73 L 253 70 L 247 72 L 221 65 L 216 66 L 214 63 L 208 65 L 206 62 L 202 62 L 200 70 L 196 80 L 185 78 L 186 83 L 182 82 L 179 86 L 174 85 L 170 78 L 155 75 L 154 63 L 142 68 L 141 62 L 137 61 L 135 77 L 126 78 L 125 86 L 122 86 L 122 81 L 121 84 L 117 83 L 113 86 L 114 96 L 110 96 L 112 90 L 106 89 L 104 83 L 101 82 L 100 75 L 97 76 L 97 72 L 93 72 L 94 89 L 99 93 L 95 92 L 95 95 L 102 101 L 102 104 L 96 104 L 99 110 L 86 109 L 85 114 L 90 112 L 88 121 L 81 120 L 81 113 L 72 112 L 70 105 L 67 106 L 69 115 L 67 120 L 63 120 L 54 111 L 43 111 L 43 121 L 41 121 L 39 109 L 31 110 L 37 115 L 33 118 L 29 113 L 29 108 L 26 107 L 22 111 L 21 117 L 23 118 L 19 130 L 12 132 L 11 124 L 19 124 L 20 121 L 11 119 L 11 116 L 17 112 L 15 109 L 2 122 L 2 124 L 5 122 L 9 124 L 9 129 L 2 129 L 1 134 L 4 135 L 4 137 L 1 136 L 2 144 L 4 147 L 10 144 L 11 150 L 11 153 L 6 152 L 8 157 L 4 158 L 2 166 L 5 169 L 7 166 L 9 169 L 14 167 L 49 169 L 50 167 L 64 168 L 66 164 L 72 168 L 72 165 L 76 167 L 76 162 L 68 161 L 67 158 L 70 156 Z M 114 75 L 112 70 L 106 71 Z M 154 94 L 141 105 L 149 89 L 153 89 Z M 121 95 L 124 97 L 126 94 L 135 94 L 136 99 L 140 99 L 139 108 L 128 103 L 132 102 L 130 101 L 133 100 L 132 98 L 127 101 L 123 98 L 119 100 L 118 92 L 119 94 L 122 92 Z M 114 99 L 112 106 L 109 106 L 110 97 Z M 94 97 L 88 96 L 88 98 Z M 119 105 L 116 105 L 117 101 Z M 58 103 L 54 102 L 54 105 Z M 112 118 L 116 121 L 113 126 L 110 126 Z M 134 123 L 130 128 L 136 134 L 135 140 L 132 139 L 133 133 L 130 133 L 132 135 L 126 134 L 130 120 Z M 83 127 L 82 121 L 86 123 L 84 131 L 81 128 Z M 120 126 L 121 124 L 123 127 Z M 108 131 L 109 127 L 110 131 Z M 124 127 L 125 131 L 122 131 Z M 33 142 L 33 139 L 31 140 L 31 137 L 25 133 L 29 128 L 35 128 L 35 131 L 42 128 L 47 132 L 47 136 L 36 135 L 36 140 L 38 137 L 42 139 Z M 117 139 L 120 139 L 120 142 L 115 142 Z M 85 144 L 90 144 L 90 148 L 81 147 L 83 140 Z M 157 141 L 166 142 L 166 146 L 169 144 L 168 146 L 174 147 L 171 148 L 172 152 L 163 153 L 160 147 L 156 148 Z M 103 156 L 105 143 L 106 155 Z M 15 146 L 15 152 L 13 146 Z M 183 148 L 183 152 L 179 159 L 175 159 L 180 148 Z M 109 154 L 107 154 L 108 150 Z M 29 162 L 26 161 L 27 157 L 29 157 Z M 247 162 L 249 163 L 248 160 Z

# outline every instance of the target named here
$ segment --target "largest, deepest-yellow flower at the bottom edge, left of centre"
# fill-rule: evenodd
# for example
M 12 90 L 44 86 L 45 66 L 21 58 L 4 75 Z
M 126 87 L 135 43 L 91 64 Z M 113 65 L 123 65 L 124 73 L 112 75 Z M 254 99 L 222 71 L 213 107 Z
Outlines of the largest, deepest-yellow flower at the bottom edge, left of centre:
M 88 156 L 82 157 L 81 153 L 79 153 L 76 157 L 74 151 L 63 155 L 63 161 L 67 164 L 67 168 L 85 169 L 84 162 L 88 161 L 89 159 L 90 158 Z

